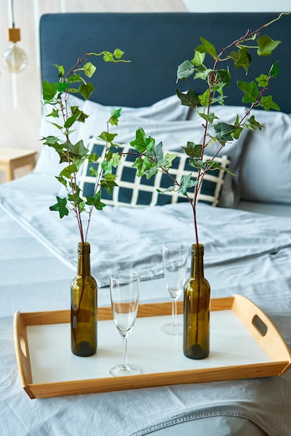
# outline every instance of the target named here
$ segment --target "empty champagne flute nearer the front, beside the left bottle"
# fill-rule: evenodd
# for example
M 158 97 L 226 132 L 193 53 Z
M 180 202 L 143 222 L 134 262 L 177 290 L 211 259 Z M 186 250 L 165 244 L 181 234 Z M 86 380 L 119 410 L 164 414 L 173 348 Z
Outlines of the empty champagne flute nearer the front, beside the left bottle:
M 111 375 L 134 375 L 142 370 L 128 364 L 127 339 L 137 316 L 140 296 L 140 274 L 132 270 L 113 272 L 110 275 L 110 297 L 112 313 L 117 330 L 123 339 L 123 364 L 110 368 Z

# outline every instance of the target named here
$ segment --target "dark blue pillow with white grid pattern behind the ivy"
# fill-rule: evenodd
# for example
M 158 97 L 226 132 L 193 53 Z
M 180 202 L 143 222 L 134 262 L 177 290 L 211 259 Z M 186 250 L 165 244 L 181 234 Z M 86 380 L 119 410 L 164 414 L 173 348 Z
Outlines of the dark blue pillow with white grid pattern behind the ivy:
M 97 153 L 100 157 L 99 161 L 102 162 L 105 155 L 104 141 L 101 141 L 98 138 L 91 138 L 89 140 L 88 148 L 91 153 Z M 129 150 L 133 150 L 133 148 L 127 145 L 122 145 L 121 148 L 118 148 L 119 153 L 128 153 Z M 177 157 L 173 161 L 170 173 L 178 182 L 180 182 L 183 176 L 193 173 L 195 169 L 193 166 L 188 164 L 188 157 L 185 153 L 172 153 L 177 154 Z M 204 159 L 207 160 L 210 159 L 210 157 L 205 155 Z M 114 187 L 112 196 L 103 189 L 102 201 L 104 203 L 114 206 L 142 207 L 146 205 L 165 205 L 169 203 L 188 201 L 186 196 L 179 194 L 178 192 L 165 192 L 165 194 L 159 194 L 157 189 L 163 190 L 171 185 L 169 176 L 158 171 L 156 176 L 152 176 L 149 180 L 147 180 L 145 176 L 137 177 L 137 170 L 131 167 L 134 160 L 135 156 L 133 155 L 125 155 L 121 157 L 122 164 L 119 164 L 117 169 L 114 169 L 118 176 L 116 179 L 118 187 Z M 216 157 L 216 160 L 224 167 L 229 164 L 227 156 Z M 94 195 L 96 177 L 91 176 L 90 174 L 89 169 L 91 166 L 98 169 L 99 165 L 88 164 L 88 162 L 84 164 L 80 176 L 80 188 L 82 189 L 83 196 Z M 213 206 L 218 205 L 224 175 L 225 171 L 223 170 L 209 171 L 209 173 L 204 176 L 197 201 L 208 203 Z

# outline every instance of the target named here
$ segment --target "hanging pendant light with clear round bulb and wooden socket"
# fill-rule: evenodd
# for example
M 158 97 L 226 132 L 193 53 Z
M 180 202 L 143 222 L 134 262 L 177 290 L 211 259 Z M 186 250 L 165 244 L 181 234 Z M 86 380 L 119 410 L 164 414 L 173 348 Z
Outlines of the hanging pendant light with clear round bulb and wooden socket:
M 2 56 L 3 65 L 10 72 L 21 72 L 27 66 L 27 55 L 18 47 L 17 42 L 20 41 L 20 29 L 14 26 L 13 0 L 10 1 L 12 28 L 7 29 L 7 39 L 9 47 Z

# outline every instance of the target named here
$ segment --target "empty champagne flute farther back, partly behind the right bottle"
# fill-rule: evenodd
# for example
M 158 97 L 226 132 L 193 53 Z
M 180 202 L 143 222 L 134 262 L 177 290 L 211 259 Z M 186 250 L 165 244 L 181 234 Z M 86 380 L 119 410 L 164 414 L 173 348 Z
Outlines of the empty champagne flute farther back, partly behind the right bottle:
M 177 299 L 181 295 L 187 270 L 189 247 L 186 242 L 169 241 L 163 244 L 165 284 L 172 297 L 172 322 L 162 325 L 165 334 L 183 334 L 183 325 L 177 322 Z

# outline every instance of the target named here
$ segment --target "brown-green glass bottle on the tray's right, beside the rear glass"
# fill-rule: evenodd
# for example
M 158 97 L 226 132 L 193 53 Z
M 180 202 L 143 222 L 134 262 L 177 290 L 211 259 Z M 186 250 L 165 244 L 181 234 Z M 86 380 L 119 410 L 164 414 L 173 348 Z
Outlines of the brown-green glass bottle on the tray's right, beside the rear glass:
M 204 278 L 204 247 L 192 245 L 191 277 L 184 286 L 184 355 L 204 359 L 209 355 L 210 286 Z

